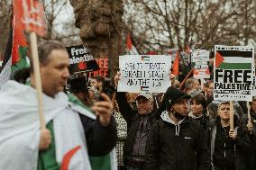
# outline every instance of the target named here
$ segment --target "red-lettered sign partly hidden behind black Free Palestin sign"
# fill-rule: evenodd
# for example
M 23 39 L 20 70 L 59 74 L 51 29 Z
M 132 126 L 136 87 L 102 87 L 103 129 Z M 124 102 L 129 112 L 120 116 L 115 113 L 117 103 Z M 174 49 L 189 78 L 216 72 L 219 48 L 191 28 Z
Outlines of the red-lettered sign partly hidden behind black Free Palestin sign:
M 88 72 L 87 77 L 92 77 L 92 76 L 109 77 L 108 58 L 96 58 L 96 63 L 98 65 L 98 70 Z

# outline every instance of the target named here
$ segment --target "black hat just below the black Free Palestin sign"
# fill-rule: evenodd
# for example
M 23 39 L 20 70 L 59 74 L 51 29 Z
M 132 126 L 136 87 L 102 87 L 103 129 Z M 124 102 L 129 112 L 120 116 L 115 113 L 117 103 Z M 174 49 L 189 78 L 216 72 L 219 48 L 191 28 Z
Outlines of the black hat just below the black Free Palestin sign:
M 70 92 L 78 92 L 78 91 L 87 91 L 87 78 L 85 76 L 79 76 L 77 78 L 73 78 L 69 81 L 69 91 Z

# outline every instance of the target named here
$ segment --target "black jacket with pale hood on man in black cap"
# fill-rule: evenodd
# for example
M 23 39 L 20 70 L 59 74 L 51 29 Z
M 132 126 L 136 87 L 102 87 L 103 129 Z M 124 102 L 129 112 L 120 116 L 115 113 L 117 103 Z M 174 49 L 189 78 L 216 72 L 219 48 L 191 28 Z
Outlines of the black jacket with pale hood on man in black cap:
M 167 118 L 169 113 L 165 115 L 151 130 L 146 148 L 146 169 L 208 170 L 210 154 L 200 123 L 186 117 L 179 125 L 174 125 Z

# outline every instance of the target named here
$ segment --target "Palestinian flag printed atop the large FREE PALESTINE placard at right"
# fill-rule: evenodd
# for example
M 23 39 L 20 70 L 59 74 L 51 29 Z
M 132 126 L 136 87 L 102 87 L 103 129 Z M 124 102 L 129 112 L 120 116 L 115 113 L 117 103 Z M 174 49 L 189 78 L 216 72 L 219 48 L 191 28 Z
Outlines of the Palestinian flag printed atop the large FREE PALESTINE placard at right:
M 251 69 L 253 67 L 252 51 L 216 50 L 215 68 Z

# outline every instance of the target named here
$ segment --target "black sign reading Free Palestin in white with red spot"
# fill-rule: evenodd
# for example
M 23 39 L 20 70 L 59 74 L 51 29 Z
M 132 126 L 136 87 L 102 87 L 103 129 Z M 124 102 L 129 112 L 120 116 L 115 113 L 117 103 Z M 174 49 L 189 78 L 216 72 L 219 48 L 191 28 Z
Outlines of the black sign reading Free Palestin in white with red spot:
M 83 45 L 66 47 L 66 49 L 69 52 L 70 75 L 98 69 L 96 59 Z

